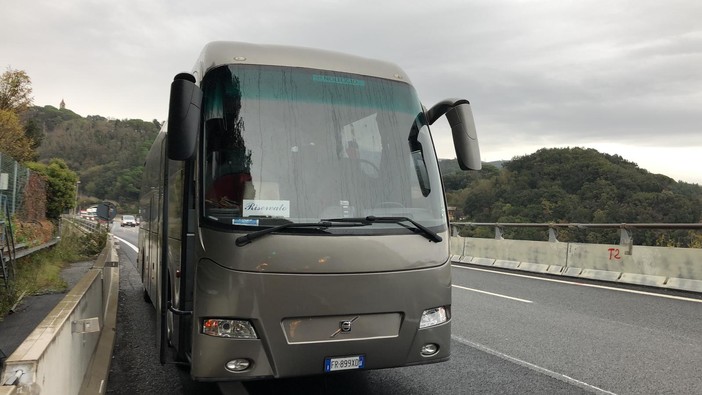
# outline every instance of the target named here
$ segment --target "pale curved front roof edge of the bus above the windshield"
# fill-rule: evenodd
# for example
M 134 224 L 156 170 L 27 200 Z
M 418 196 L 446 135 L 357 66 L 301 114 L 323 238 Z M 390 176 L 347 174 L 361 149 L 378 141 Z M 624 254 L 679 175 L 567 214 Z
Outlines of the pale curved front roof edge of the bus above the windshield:
M 305 47 L 213 41 L 205 45 L 193 67 L 198 83 L 205 73 L 225 64 L 304 67 L 379 77 L 412 84 L 397 65 L 360 56 Z

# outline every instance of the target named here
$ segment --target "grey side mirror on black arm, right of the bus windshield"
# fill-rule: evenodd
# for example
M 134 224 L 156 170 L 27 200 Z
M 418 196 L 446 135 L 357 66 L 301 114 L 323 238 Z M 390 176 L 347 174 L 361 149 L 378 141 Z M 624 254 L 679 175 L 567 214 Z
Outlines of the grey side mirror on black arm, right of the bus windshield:
M 448 99 L 437 103 L 427 111 L 429 124 L 433 124 L 444 114 L 451 125 L 458 165 L 462 170 L 480 170 L 480 147 L 470 103 L 462 99 Z

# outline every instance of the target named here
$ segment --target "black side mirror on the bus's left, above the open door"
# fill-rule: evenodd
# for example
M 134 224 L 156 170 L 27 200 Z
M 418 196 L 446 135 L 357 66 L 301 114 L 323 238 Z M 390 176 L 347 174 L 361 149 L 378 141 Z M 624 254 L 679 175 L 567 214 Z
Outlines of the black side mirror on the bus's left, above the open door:
M 195 85 L 195 77 L 187 73 L 176 75 L 168 105 L 169 159 L 188 160 L 195 154 L 201 107 L 202 91 Z

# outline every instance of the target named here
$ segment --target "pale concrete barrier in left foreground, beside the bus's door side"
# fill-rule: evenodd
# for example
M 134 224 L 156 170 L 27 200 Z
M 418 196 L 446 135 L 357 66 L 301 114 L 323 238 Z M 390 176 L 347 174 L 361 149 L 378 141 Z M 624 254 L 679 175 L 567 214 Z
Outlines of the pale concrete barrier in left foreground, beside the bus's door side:
M 103 374 L 103 381 L 106 379 L 114 340 L 109 345 L 107 369 L 96 350 L 100 350 L 99 342 L 109 341 L 110 333 L 114 339 L 118 262 L 108 238 L 95 265 L 5 361 L 0 395 L 78 394 L 84 382 L 94 381 L 95 376 Z M 84 392 L 104 391 L 94 388 Z

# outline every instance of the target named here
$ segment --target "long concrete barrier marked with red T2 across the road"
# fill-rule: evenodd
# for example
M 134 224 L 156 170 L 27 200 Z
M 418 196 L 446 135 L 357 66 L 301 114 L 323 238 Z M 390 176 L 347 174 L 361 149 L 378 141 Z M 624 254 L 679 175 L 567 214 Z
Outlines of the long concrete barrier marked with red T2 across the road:
M 451 237 L 450 245 L 451 254 L 462 254 L 453 257 L 453 262 L 702 292 L 700 248 L 458 236 Z

